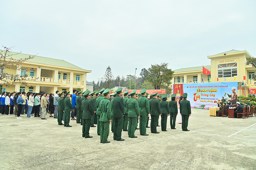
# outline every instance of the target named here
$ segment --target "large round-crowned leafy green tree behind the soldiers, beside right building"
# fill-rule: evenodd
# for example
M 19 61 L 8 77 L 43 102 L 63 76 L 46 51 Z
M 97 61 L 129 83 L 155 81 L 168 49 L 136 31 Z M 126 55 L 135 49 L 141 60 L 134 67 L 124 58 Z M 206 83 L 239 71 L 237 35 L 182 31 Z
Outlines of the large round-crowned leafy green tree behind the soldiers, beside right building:
M 146 80 L 150 82 L 154 89 L 166 89 L 167 94 L 171 94 L 172 87 L 170 80 L 173 78 L 172 69 L 168 69 L 168 63 L 155 64 L 145 71 Z

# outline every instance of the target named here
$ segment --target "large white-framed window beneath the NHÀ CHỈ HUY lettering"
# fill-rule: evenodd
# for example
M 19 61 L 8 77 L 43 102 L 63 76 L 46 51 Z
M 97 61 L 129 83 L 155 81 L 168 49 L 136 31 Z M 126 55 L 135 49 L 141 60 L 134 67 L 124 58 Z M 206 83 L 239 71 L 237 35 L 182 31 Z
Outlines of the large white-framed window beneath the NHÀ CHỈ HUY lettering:
M 218 64 L 218 78 L 237 76 L 237 63 Z

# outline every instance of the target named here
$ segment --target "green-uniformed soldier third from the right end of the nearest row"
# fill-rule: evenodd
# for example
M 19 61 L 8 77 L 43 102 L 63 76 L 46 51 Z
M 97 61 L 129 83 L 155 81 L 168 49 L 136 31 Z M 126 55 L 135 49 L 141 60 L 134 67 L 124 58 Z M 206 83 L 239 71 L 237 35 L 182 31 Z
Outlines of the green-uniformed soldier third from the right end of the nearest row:
M 167 98 L 167 95 L 164 94 L 164 95 L 162 96 L 162 99 L 166 99 L 166 98 Z M 160 102 L 160 107 L 161 107 L 161 129 L 162 129 L 162 131 L 167 131 L 167 130 L 166 130 L 166 126 L 167 126 L 167 117 L 168 117 L 168 115 L 170 114 L 168 101 L 162 100 L 162 101 Z

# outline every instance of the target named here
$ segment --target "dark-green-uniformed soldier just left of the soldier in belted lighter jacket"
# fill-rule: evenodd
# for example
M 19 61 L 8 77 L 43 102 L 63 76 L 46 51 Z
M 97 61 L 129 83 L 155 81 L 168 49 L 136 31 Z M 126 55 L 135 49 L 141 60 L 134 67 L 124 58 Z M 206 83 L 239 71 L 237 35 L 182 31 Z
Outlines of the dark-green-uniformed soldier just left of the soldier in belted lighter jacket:
M 92 108 L 92 101 L 89 100 L 89 93 L 90 93 L 89 90 L 84 92 L 83 96 L 85 97 L 85 99 L 81 103 L 81 107 L 83 107 L 83 129 L 82 129 L 83 135 L 82 135 L 82 137 L 85 137 L 85 138 L 92 137 L 89 135 L 90 134 L 89 130 L 90 130 L 91 119 L 92 119 L 92 115 L 93 115 L 93 108 Z

